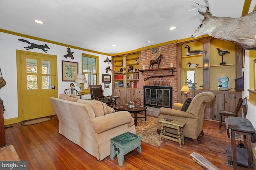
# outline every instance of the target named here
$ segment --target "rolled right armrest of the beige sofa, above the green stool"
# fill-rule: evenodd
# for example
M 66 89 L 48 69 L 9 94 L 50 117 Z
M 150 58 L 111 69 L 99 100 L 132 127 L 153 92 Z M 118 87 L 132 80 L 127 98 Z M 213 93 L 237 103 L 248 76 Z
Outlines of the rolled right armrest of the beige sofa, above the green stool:
M 92 120 L 93 129 L 96 133 L 102 133 L 114 127 L 131 122 L 131 113 L 128 111 L 117 111 L 104 116 L 95 117 Z

